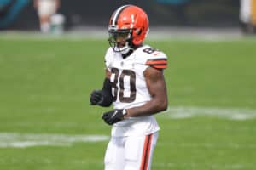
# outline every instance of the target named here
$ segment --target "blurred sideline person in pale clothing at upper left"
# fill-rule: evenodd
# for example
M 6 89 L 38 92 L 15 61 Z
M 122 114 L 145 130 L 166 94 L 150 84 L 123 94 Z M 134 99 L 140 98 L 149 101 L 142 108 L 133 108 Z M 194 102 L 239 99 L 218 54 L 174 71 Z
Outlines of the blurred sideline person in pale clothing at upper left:
M 38 11 L 40 30 L 49 32 L 51 16 L 60 8 L 60 0 L 34 0 L 34 8 Z

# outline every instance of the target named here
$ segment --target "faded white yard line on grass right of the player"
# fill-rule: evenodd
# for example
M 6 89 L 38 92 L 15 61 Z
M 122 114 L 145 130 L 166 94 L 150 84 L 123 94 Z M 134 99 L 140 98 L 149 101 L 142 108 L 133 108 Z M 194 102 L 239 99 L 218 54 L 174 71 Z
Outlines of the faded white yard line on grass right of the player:
M 185 119 L 195 116 L 211 116 L 229 120 L 244 121 L 256 119 L 256 110 L 253 109 L 229 109 L 207 107 L 169 107 L 161 116 L 172 119 Z

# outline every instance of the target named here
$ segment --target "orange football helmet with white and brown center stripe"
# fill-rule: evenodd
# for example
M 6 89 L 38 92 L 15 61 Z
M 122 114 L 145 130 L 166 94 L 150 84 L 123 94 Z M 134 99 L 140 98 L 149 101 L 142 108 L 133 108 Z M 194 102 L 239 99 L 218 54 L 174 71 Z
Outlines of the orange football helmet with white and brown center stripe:
M 116 9 L 108 26 L 110 46 L 116 52 L 127 53 L 141 45 L 148 33 L 148 15 L 135 5 L 125 5 Z M 125 44 L 119 47 L 119 39 Z

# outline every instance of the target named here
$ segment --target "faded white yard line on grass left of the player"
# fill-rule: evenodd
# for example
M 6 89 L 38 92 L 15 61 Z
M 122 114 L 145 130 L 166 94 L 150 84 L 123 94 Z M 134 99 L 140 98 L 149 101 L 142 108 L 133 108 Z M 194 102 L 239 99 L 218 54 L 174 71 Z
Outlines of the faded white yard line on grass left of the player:
M 70 146 L 73 143 L 102 142 L 105 135 L 67 135 L 35 133 L 0 133 L 0 148 L 26 148 L 32 146 Z

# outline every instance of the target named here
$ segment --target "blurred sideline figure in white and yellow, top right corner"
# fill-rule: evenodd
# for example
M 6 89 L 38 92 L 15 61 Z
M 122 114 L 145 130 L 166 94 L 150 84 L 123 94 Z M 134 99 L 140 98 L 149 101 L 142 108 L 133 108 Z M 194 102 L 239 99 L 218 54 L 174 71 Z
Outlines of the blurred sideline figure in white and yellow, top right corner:
M 256 0 L 240 0 L 241 30 L 244 33 L 256 32 Z

